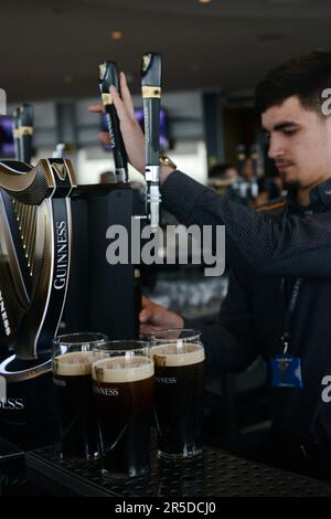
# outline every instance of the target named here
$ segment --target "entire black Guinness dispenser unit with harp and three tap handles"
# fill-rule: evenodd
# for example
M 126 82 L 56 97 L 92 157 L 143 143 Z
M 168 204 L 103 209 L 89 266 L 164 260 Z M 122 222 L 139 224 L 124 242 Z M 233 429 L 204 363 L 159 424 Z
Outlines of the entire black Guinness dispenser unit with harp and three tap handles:
M 160 55 L 146 54 L 146 220 L 151 227 L 159 223 L 160 81 Z M 0 377 L 7 386 L 7 394 L 0 394 L 0 436 L 26 449 L 58 439 L 53 337 L 96 331 L 135 339 L 139 333 L 137 268 L 106 258 L 107 230 L 125 226 L 131 243 L 134 216 L 127 155 L 106 92 L 110 83 L 118 86 L 117 67 L 105 62 L 99 88 L 117 182 L 77 186 L 71 161 L 62 158 L 31 166 L 33 113 L 28 105 L 14 116 L 18 160 L 0 162 Z

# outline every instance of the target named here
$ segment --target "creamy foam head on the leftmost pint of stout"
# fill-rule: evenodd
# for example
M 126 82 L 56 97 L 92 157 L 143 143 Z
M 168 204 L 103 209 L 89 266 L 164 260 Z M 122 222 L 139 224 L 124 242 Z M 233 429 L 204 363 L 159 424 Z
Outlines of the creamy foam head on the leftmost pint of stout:
M 53 359 L 53 373 L 58 377 L 79 377 L 90 374 L 92 351 L 73 351 Z

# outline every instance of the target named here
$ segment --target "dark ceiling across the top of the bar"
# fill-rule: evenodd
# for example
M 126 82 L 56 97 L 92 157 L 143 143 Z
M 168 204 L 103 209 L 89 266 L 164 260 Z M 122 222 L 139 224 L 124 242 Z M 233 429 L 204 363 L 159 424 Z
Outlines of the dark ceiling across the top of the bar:
M 250 88 L 296 53 L 331 50 L 330 0 L 1 0 L 0 20 L 9 103 L 94 97 L 107 59 L 138 92 L 147 51 L 162 53 L 163 88 L 178 91 Z

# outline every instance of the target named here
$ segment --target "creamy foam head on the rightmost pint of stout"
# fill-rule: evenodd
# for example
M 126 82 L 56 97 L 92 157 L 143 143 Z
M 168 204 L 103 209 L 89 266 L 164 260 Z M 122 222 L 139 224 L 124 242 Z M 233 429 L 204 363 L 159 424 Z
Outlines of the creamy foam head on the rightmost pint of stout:
M 167 345 L 154 346 L 152 348 L 152 356 L 156 366 L 192 366 L 204 361 L 204 349 L 199 343 L 169 342 Z

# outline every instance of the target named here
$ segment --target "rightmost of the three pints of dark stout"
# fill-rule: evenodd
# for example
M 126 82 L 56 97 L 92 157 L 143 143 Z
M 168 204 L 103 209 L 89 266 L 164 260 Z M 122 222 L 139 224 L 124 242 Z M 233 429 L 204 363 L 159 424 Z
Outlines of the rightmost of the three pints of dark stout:
M 204 349 L 201 343 L 152 348 L 159 455 L 190 457 L 202 451 Z

